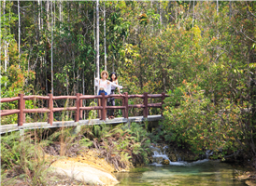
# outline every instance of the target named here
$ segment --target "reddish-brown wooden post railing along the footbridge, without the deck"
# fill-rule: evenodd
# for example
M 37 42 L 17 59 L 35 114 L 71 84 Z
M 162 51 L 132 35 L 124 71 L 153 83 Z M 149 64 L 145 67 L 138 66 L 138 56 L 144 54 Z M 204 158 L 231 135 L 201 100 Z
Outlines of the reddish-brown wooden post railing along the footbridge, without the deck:
M 0 117 L 5 115 L 10 115 L 14 113 L 18 113 L 18 126 L 22 126 L 23 123 L 25 123 L 25 113 L 49 113 L 48 116 L 48 123 L 52 126 L 53 122 L 53 113 L 54 112 L 62 112 L 62 111 L 75 111 L 75 122 L 78 122 L 81 120 L 82 111 L 91 111 L 91 110 L 101 110 L 100 119 L 106 120 L 107 116 L 107 109 L 121 109 L 122 110 L 122 116 L 124 118 L 128 118 L 128 111 L 129 108 L 143 108 L 143 116 L 145 118 L 148 117 L 149 108 L 155 107 L 155 108 L 162 108 L 162 105 L 164 103 L 164 98 L 167 95 L 162 94 L 148 94 L 144 93 L 143 95 L 128 95 L 127 92 L 123 93 L 122 95 L 108 95 L 105 96 L 104 93 L 102 93 L 99 96 L 92 96 L 92 95 L 82 95 L 77 93 L 77 96 L 52 96 L 52 94 L 49 94 L 48 96 L 24 96 L 23 94 L 19 94 L 19 97 L 14 98 L 4 98 L 0 99 L 1 102 L 10 102 L 14 100 L 18 100 L 18 109 L 17 110 L 1 110 L 0 111 Z M 121 106 L 106 106 L 105 104 L 102 104 L 102 106 L 88 106 L 83 107 L 82 106 L 82 100 L 90 100 L 90 99 L 101 99 L 101 102 L 106 102 L 107 98 L 115 99 L 121 99 L 122 105 Z M 129 105 L 128 99 L 135 99 L 140 98 L 143 99 L 143 104 L 135 104 L 135 105 Z M 156 99 L 156 98 L 162 98 L 162 102 L 159 103 L 149 103 L 149 99 Z M 39 108 L 39 109 L 25 109 L 25 100 L 48 100 L 48 107 L 49 108 Z M 75 107 L 64 107 L 64 108 L 54 108 L 53 107 L 53 100 L 66 100 L 66 99 L 73 99 L 76 100 L 76 106 Z

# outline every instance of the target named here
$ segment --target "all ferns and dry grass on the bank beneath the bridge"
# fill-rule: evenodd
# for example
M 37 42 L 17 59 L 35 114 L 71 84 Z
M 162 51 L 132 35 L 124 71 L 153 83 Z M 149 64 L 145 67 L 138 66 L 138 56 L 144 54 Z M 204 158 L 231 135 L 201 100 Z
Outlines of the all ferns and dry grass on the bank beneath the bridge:
M 96 164 L 95 161 L 105 159 L 113 171 L 129 170 L 149 163 L 149 146 L 149 133 L 136 123 L 115 127 L 82 126 L 78 134 L 74 128 L 36 129 L 23 135 L 14 132 L 0 137 L 0 182 L 3 185 L 55 184 L 60 178 L 52 173 L 52 163 L 67 157 L 84 157 L 89 151 L 96 156 L 89 158 L 89 162 Z M 100 165 L 98 163 L 98 168 L 105 168 Z

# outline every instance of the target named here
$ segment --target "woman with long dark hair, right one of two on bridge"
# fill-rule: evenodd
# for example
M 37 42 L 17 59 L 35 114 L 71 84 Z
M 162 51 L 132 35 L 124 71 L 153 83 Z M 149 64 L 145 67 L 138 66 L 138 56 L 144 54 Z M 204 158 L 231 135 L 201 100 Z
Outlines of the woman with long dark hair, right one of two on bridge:
M 110 73 L 110 82 L 112 82 L 112 84 L 115 84 L 117 86 L 119 85 L 118 76 L 117 76 L 116 73 Z M 115 94 L 115 89 L 116 89 L 116 86 L 112 86 L 111 85 L 111 92 L 110 92 L 109 95 Z M 119 87 L 118 87 L 118 91 L 119 91 L 119 94 L 121 94 Z M 111 103 L 111 106 L 115 106 L 116 105 L 114 97 L 107 99 L 107 106 L 110 106 L 110 103 Z M 107 115 L 108 115 L 108 119 L 114 119 L 115 118 L 114 110 L 113 109 L 107 110 Z

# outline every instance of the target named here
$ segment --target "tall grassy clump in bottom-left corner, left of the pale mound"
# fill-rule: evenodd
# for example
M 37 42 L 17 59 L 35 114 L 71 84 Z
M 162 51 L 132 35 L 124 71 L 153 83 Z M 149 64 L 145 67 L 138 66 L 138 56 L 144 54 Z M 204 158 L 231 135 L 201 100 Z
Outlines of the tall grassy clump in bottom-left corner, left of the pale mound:
M 24 178 L 26 184 L 46 184 L 46 174 L 50 162 L 46 161 L 45 153 L 40 144 L 31 140 L 31 134 L 20 136 L 19 132 L 0 138 L 0 160 L 14 172 Z M 3 178 L 4 179 L 4 178 Z M 6 184 L 10 180 L 6 179 Z

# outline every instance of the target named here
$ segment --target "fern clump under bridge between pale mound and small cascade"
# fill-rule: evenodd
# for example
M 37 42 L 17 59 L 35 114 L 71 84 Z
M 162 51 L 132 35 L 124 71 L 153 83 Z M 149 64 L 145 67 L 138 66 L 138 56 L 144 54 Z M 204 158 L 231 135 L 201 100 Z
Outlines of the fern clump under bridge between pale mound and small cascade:
M 126 124 L 114 128 L 107 125 L 87 126 L 82 129 L 82 133 L 117 170 L 131 166 L 131 162 L 149 162 L 149 133 L 142 124 L 132 123 L 131 126 Z M 85 140 L 91 145 L 88 139 Z

